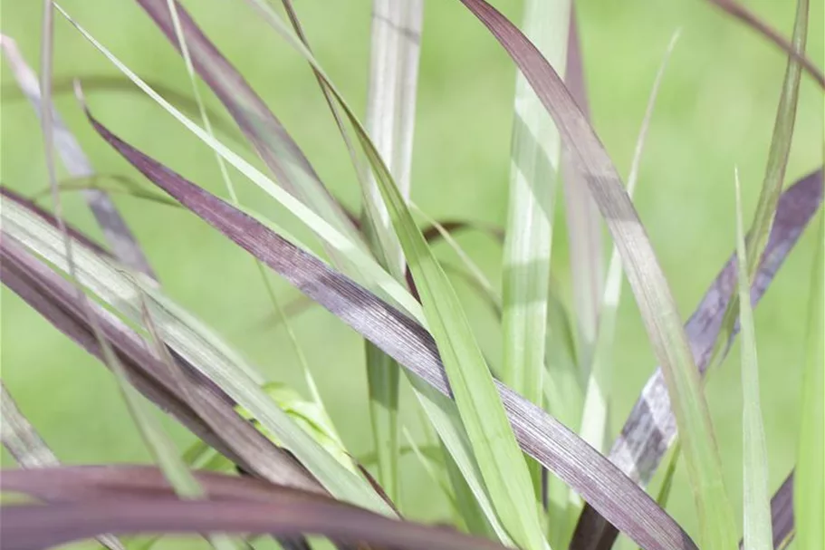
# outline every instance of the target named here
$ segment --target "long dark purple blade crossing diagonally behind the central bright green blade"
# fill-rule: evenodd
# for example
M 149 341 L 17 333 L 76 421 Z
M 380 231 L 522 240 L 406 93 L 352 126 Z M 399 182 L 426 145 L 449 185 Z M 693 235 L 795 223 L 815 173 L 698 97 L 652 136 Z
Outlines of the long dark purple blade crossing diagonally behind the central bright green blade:
M 419 324 L 253 217 L 120 140 L 88 111 L 87 115 L 101 137 L 150 181 L 269 265 L 399 364 L 436 390 L 451 395 L 436 344 Z M 606 458 L 545 411 L 500 382 L 496 385 L 516 439 L 532 458 L 554 471 L 639 545 L 649 550 L 695 548 L 673 518 Z

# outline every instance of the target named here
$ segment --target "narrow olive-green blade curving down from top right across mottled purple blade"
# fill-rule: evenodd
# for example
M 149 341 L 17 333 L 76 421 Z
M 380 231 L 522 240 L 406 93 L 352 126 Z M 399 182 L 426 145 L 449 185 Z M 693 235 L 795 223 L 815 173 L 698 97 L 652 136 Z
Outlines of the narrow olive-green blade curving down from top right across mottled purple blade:
M 809 0 L 797 0 L 796 19 L 793 24 L 793 37 L 791 38 L 795 52 L 804 53 L 805 51 L 805 43 L 808 39 L 808 9 Z M 785 179 L 785 169 L 788 167 L 788 158 L 791 154 L 791 138 L 796 122 L 796 109 L 799 104 L 801 72 L 801 64 L 795 57 L 790 55 L 782 81 L 782 93 L 776 109 L 776 120 L 773 123 L 771 147 L 768 150 L 762 190 L 745 241 L 749 279 L 753 279 L 753 275 L 756 274 L 760 258 L 767 244 L 768 235 L 771 232 L 777 203 L 782 194 L 782 183 Z M 713 366 L 724 360 L 724 347 L 734 331 L 739 306 L 739 299 L 734 294 L 734 298 L 728 304 L 725 312 L 723 331 L 716 341 L 712 360 Z

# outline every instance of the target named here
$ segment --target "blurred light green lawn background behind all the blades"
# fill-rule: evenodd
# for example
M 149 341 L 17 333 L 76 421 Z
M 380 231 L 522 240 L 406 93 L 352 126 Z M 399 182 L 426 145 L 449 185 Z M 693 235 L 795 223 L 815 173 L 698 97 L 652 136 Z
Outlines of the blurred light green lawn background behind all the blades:
M 62 5 L 142 77 L 190 95 L 181 59 L 134 2 L 65 0 Z M 359 192 L 349 159 L 306 63 L 242 0 L 187 1 L 184 5 L 281 118 L 329 188 L 356 207 Z M 521 20 L 520 2 L 496 1 L 494 5 L 514 21 Z M 794 3 L 749 0 L 747 5 L 782 34 L 790 34 Z M 321 63 L 350 103 L 363 112 L 369 66 L 369 2 L 300 0 L 296 7 Z M 577 7 L 592 118 L 622 174 L 627 173 L 648 92 L 667 42 L 677 27 L 683 30 L 657 102 L 636 204 L 679 311 L 686 318 L 734 248 L 734 165 L 739 166 L 742 177 L 745 216 L 749 218 L 753 212 L 785 57 L 701 0 L 582 0 Z M 41 10 L 39 2 L 5 0 L 2 4 L 3 33 L 18 42 L 34 67 L 39 63 Z M 808 52 L 820 66 L 823 18 L 823 3 L 815 0 L 811 3 Z M 118 74 L 62 17 L 56 19 L 55 78 Z M 15 92 L 5 60 L 2 79 L 0 179 L 10 188 L 32 194 L 48 185 L 39 124 L 30 105 Z M 412 194 L 430 216 L 504 223 L 513 82 L 509 58 L 459 2 L 428 0 Z M 88 94 L 92 111 L 111 130 L 187 178 L 225 195 L 211 151 L 152 101 L 138 92 Z M 207 99 L 212 109 L 224 114 L 218 101 L 211 96 Z M 71 96 L 62 94 L 56 102 L 97 170 L 139 178 L 91 130 Z M 820 90 L 803 76 L 788 182 L 821 163 L 822 107 Z M 229 120 L 225 115 L 223 119 Z M 251 153 L 246 157 L 254 159 Z M 65 172 L 61 174 L 65 177 Z M 270 216 L 283 217 L 273 201 L 252 184 L 240 176 L 235 181 L 242 189 L 243 201 L 254 203 Z M 115 200 L 145 246 L 168 294 L 223 334 L 268 376 L 303 390 L 283 331 L 266 328 L 271 308 L 253 261 L 181 210 L 129 197 Z M 100 237 L 82 200 L 70 194 L 64 201 L 72 223 Z M 569 290 L 561 208 L 559 214 L 553 272 Z M 463 235 L 459 240 L 494 281 L 499 281 L 501 249 L 484 236 Z M 812 246 L 809 231 L 756 310 L 772 488 L 788 473 L 795 454 Z M 439 253 L 451 257 L 443 247 Z M 297 295 L 281 281 L 276 285 L 284 299 Z M 475 328 L 495 357 L 500 337 L 494 319 L 472 294 L 459 290 Z M 109 372 L 5 287 L 0 295 L 3 379 L 57 455 L 69 463 L 147 460 L 148 453 Z M 355 454 L 368 452 L 371 439 L 362 343 L 342 323 L 317 308 L 302 314 L 294 326 L 342 437 Z M 614 433 L 655 367 L 629 292 L 619 311 L 618 331 Z M 739 509 L 742 436 L 738 346 L 724 368 L 710 376 L 707 396 L 724 462 L 724 482 Z M 403 396 L 405 420 L 417 432 L 413 401 L 408 398 Z M 190 436 L 172 422 L 168 426 L 183 448 Z M 9 466 L 12 461 L 3 455 L 3 463 Z M 420 519 L 445 518 L 444 499 L 416 459 L 405 458 L 403 467 L 403 510 Z M 693 499 L 683 468 L 676 474 L 668 508 L 695 533 Z

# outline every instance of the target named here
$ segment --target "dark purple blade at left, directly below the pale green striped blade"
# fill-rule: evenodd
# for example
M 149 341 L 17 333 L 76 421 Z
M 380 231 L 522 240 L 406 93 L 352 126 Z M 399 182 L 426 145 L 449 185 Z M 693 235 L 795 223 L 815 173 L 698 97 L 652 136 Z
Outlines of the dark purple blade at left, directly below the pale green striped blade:
M 5 233 L 0 239 L 0 260 L 0 278 L 4 285 L 102 361 L 100 343 L 71 283 L 26 253 L 23 246 Z M 166 410 L 198 438 L 245 470 L 283 485 L 321 491 L 317 481 L 291 456 L 274 447 L 269 439 L 238 416 L 234 403 L 225 393 L 182 358 L 175 356 L 178 366 L 187 373 L 186 391 L 180 390 L 182 377 L 173 376 L 137 333 L 101 306 L 90 303 L 89 309 L 132 384 L 160 409 Z M 197 405 L 193 406 L 192 400 L 197 400 Z

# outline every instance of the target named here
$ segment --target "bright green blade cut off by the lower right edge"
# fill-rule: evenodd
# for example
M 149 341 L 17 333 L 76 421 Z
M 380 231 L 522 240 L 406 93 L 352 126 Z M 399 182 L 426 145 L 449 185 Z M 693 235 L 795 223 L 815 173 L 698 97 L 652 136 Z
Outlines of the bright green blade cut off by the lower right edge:
M 802 374 L 801 422 L 793 481 L 793 514 L 797 548 L 825 547 L 825 323 L 823 323 L 823 263 L 825 216 L 820 213 L 817 251 L 811 276 L 811 310 Z

